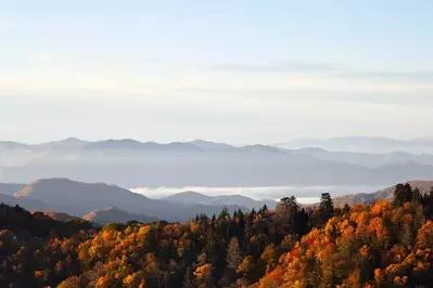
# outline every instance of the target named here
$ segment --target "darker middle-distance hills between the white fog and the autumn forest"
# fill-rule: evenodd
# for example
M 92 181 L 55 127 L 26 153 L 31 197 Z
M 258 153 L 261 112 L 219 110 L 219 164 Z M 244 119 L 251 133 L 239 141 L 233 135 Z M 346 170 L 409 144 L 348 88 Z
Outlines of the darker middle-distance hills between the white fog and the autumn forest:
M 429 192 L 433 181 L 409 181 L 412 187 Z M 360 193 L 333 197 L 334 205 L 373 202 L 379 199 L 391 200 L 395 186 L 375 193 Z M 290 195 L 289 195 L 290 196 Z M 67 179 L 43 179 L 25 185 L 11 195 L 0 194 L 0 202 L 18 205 L 28 210 L 43 211 L 46 215 L 62 221 L 82 218 L 105 224 L 110 222 L 143 223 L 157 220 L 184 221 L 196 214 L 219 214 L 224 207 L 229 212 L 241 209 L 249 211 L 267 205 L 275 209 L 277 202 L 271 199 L 254 200 L 241 195 L 207 196 L 196 192 L 183 192 L 164 199 L 150 199 L 128 189 L 103 183 L 81 183 Z

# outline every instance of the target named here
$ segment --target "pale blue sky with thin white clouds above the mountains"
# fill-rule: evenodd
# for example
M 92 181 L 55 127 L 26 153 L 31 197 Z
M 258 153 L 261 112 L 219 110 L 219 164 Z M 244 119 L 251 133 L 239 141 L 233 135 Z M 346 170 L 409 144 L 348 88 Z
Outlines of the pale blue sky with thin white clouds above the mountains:
M 433 136 L 433 1 L 13 0 L 0 139 Z

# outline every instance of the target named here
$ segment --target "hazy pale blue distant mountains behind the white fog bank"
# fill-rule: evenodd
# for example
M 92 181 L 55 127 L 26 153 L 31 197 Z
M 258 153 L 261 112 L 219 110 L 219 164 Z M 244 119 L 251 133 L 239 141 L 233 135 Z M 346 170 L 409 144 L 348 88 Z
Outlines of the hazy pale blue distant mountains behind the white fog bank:
M 408 146 L 431 147 L 433 152 L 432 142 L 428 140 L 344 138 L 329 142 L 347 145 L 332 152 L 310 147 L 318 142 L 303 142 L 308 145 L 290 149 L 286 145 L 239 147 L 202 140 L 168 144 L 78 139 L 39 145 L 0 142 L 0 181 L 29 183 L 35 179 L 67 178 L 80 182 L 116 183 L 124 187 L 254 187 L 391 185 L 410 179 L 433 178 L 432 155 L 398 152 L 399 147 Z M 374 143 L 379 144 L 374 146 Z M 362 152 L 347 152 L 351 145 Z M 369 147 L 386 147 L 392 152 L 371 154 Z

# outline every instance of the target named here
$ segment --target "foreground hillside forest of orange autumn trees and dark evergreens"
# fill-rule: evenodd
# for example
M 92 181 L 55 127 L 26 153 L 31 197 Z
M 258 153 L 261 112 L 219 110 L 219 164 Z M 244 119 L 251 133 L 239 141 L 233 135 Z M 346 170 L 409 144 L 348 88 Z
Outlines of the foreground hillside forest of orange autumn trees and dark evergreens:
M 58 222 L 0 207 L 0 287 L 431 287 L 433 192 L 222 210 L 183 223 Z

